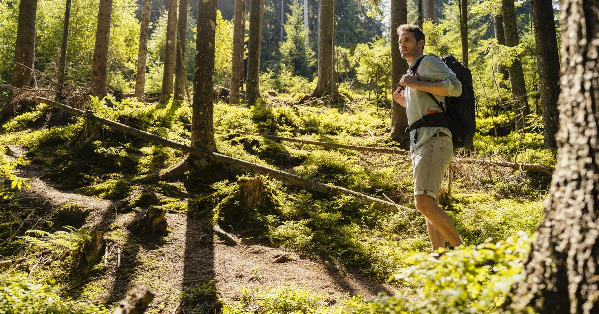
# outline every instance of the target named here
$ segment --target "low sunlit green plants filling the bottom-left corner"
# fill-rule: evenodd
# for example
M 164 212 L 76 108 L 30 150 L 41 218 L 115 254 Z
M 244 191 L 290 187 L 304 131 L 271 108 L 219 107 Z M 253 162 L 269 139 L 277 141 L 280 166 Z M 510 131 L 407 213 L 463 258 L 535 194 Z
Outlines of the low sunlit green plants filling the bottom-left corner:
M 59 291 L 52 286 L 35 281 L 23 272 L 0 276 L 0 286 L 1 313 L 110 313 L 103 306 L 60 297 Z

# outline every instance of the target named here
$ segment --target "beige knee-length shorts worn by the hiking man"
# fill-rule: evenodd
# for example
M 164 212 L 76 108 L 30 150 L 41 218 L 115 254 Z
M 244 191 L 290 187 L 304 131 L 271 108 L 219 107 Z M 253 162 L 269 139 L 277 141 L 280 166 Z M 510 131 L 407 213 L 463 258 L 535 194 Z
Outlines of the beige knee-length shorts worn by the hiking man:
M 438 136 L 437 133 L 412 151 L 415 196 L 430 195 L 437 199 L 452 154 L 451 136 Z

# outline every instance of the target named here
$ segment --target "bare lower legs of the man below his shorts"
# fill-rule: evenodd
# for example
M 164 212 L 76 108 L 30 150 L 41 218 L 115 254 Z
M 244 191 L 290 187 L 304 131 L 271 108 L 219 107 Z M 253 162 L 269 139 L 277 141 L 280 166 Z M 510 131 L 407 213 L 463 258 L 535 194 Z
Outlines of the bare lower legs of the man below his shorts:
M 435 200 L 432 199 L 432 196 L 429 195 L 416 195 L 414 199 L 416 203 L 416 209 L 418 209 L 418 211 L 421 212 L 422 215 L 424 215 L 427 219 L 426 228 L 428 229 L 428 234 L 431 238 L 431 243 L 434 249 L 436 249 L 435 246 L 439 245 L 439 243 L 437 242 L 437 234 L 433 235 L 433 233 L 431 233 L 431 228 L 429 228 L 428 221 L 432 222 L 431 227 L 441 234 L 441 238 L 444 237 L 444 239 L 447 239 L 452 246 L 464 244 L 461 237 L 459 237 L 458 230 L 456 230 L 455 225 L 453 225 L 451 218 L 449 218 L 447 213 L 439 207 L 438 200 L 435 202 Z M 444 239 L 443 247 L 445 246 Z

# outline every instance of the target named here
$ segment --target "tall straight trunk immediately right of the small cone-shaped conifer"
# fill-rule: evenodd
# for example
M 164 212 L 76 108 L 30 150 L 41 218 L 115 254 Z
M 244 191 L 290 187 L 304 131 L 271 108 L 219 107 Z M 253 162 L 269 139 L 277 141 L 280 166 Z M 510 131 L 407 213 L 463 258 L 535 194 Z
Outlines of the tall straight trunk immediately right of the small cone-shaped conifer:
M 332 54 L 335 0 L 319 1 L 318 9 L 318 81 L 314 97 L 322 97 L 331 93 L 332 80 Z

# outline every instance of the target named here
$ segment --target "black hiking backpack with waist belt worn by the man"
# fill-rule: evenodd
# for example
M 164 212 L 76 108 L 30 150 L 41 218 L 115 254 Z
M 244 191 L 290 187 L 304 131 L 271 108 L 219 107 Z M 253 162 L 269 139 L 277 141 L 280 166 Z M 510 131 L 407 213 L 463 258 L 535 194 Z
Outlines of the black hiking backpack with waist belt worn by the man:
M 412 74 L 416 73 L 422 59 L 424 59 L 424 57 L 421 57 L 412 66 Z M 446 96 L 445 102 L 447 104 L 447 109 L 445 109 L 443 108 L 443 102 L 438 102 L 435 96 L 432 96 L 431 93 L 427 93 L 435 100 L 443 112 L 424 115 L 420 120 L 410 125 L 410 131 L 423 126 L 447 127 L 452 133 L 454 148 L 471 147 L 474 132 L 476 131 L 472 73 L 451 55 L 444 56 L 441 60 L 462 83 L 462 94 L 458 97 Z

